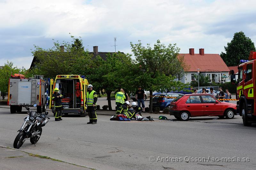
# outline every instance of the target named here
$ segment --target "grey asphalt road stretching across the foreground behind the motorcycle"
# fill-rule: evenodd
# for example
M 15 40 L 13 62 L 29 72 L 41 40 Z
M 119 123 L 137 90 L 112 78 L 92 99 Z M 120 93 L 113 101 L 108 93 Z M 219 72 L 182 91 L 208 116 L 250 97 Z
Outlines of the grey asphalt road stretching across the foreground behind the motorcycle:
M 0 108 L 0 146 L 13 147 L 24 117 Z M 86 124 L 88 117 L 51 119 L 36 146 L 26 140 L 20 150 L 95 169 L 256 169 L 256 126 L 244 127 L 240 116 L 167 117 L 172 120 L 121 122 L 98 115 L 95 125 Z

